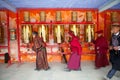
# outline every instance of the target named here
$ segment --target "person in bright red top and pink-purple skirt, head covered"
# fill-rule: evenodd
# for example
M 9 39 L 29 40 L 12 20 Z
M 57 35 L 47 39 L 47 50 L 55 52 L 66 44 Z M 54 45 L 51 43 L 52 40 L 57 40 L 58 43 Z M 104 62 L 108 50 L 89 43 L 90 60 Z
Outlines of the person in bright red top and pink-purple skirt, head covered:
M 70 41 L 71 55 L 67 65 L 68 69 L 67 71 L 81 70 L 80 60 L 82 47 L 80 45 L 79 38 L 74 35 L 73 31 L 70 31 L 69 35 L 71 36 L 72 39 Z

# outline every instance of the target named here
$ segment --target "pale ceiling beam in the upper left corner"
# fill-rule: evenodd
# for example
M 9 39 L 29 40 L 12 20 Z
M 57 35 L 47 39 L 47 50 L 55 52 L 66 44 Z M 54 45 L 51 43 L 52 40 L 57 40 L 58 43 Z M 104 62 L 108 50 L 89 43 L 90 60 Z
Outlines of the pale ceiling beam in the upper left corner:
M 0 5 L 10 11 L 16 12 L 16 7 L 9 3 L 8 1 L 0 0 Z

